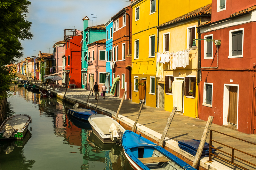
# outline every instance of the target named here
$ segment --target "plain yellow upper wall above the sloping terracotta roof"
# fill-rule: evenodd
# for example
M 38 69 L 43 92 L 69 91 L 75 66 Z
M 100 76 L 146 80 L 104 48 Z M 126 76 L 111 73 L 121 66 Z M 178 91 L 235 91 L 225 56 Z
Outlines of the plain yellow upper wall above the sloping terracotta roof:
M 212 0 L 161 0 L 159 25 L 211 3 Z

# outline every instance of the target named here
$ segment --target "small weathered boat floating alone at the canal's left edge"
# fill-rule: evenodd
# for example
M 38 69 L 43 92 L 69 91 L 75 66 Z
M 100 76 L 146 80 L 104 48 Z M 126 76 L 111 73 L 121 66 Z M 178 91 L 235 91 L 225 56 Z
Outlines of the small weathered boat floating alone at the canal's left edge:
M 22 139 L 28 130 L 31 117 L 29 115 L 13 115 L 0 126 L 0 139 Z

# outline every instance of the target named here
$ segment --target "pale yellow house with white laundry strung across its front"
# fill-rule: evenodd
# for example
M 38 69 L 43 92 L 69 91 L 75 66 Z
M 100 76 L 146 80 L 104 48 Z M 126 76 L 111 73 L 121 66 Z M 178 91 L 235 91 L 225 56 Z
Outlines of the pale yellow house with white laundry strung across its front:
M 200 74 L 197 68 L 200 52 L 197 51 L 197 48 L 192 49 L 191 46 L 193 39 L 201 39 L 196 27 L 211 20 L 212 4 L 210 4 L 211 1 L 206 0 L 202 4 L 208 2 L 208 5 L 200 7 L 202 4 L 189 1 L 189 3 L 194 2 L 193 11 L 186 1 L 179 2 L 182 2 L 183 5 L 180 5 L 178 9 L 184 7 L 181 10 L 183 15 L 158 26 L 157 107 L 172 111 L 175 106 L 180 114 L 196 117 L 197 76 Z M 172 9 L 175 10 L 175 7 Z M 160 14 L 161 11 L 166 12 L 166 10 L 168 10 L 167 6 L 160 3 Z M 184 14 L 184 11 L 187 13 Z M 175 16 L 177 13 L 179 11 L 172 12 L 171 15 Z M 196 45 L 198 46 L 198 40 L 196 40 Z

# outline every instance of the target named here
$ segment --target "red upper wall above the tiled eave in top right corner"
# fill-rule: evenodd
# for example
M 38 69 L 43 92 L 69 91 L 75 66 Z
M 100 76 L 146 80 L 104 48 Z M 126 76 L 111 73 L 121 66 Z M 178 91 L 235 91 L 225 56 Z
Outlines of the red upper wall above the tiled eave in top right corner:
M 217 12 L 217 0 L 212 1 L 212 22 L 229 18 L 233 13 L 256 5 L 255 0 L 227 0 L 226 3 L 226 10 Z

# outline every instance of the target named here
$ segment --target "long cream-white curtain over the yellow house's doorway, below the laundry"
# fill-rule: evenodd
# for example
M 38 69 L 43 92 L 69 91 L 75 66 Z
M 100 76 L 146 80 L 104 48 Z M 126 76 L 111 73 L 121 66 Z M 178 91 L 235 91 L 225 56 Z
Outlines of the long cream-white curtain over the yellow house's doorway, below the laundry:
M 172 82 L 172 100 L 173 100 L 173 106 L 177 107 L 178 111 L 182 110 L 182 83 L 184 82 L 184 79 L 176 79 Z

